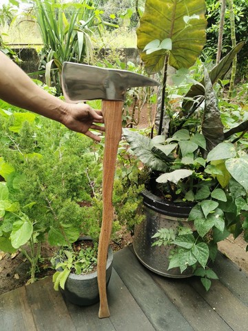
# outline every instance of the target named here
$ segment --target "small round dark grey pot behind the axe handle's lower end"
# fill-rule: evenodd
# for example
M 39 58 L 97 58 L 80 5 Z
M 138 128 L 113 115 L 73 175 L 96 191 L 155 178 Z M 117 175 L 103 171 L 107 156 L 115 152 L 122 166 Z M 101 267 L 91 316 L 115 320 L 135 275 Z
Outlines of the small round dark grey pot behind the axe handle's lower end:
M 108 248 L 106 265 L 106 284 L 108 285 L 112 274 L 113 251 Z M 94 305 L 99 302 L 99 288 L 97 272 L 90 274 L 69 274 L 65 281 L 65 290 L 60 288 L 63 297 L 74 305 Z

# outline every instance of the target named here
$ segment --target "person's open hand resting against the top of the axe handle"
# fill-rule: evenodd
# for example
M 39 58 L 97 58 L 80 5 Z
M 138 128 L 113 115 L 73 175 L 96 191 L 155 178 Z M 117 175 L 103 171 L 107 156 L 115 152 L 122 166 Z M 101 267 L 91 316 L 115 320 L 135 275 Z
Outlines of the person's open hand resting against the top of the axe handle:
M 93 110 L 85 103 L 65 103 L 65 115 L 61 119 L 68 129 L 85 134 L 95 141 L 101 141 L 101 137 L 90 131 L 99 130 L 103 132 L 104 126 L 97 126 L 94 123 L 103 123 L 101 110 Z

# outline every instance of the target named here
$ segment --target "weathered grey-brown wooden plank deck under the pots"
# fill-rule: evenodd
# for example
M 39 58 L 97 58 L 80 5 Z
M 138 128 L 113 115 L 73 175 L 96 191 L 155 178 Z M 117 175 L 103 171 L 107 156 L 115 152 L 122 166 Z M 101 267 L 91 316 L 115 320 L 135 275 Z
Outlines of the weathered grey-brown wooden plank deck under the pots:
M 200 281 L 166 279 L 138 262 L 132 248 L 114 254 L 108 287 L 110 318 L 97 317 L 99 304 L 81 308 L 53 290 L 52 279 L 0 296 L 0 331 L 245 331 L 248 274 L 222 254 L 205 292 Z

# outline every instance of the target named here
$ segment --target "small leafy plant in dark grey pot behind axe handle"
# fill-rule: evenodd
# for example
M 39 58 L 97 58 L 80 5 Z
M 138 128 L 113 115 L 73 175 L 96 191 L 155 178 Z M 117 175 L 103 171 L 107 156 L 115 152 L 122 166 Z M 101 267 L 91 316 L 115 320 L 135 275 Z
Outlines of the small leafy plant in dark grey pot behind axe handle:
M 68 247 L 56 252 L 52 259 L 56 272 L 52 277 L 54 290 L 76 305 L 93 305 L 99 302 L 97 283 L 97 243 L 91 237 L 81 237 Z M 113 251 L 109 246 L 106 264 L 106 284 L 112 273 Z

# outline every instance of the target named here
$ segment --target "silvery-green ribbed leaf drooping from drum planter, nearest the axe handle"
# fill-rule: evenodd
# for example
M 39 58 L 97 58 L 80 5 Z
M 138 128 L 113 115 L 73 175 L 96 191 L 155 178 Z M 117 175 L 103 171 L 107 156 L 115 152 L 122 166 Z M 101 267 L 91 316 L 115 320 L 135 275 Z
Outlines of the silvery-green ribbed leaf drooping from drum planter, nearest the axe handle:
M 167 170 L 167 164 L 152 153 L 150 146 L 151 139 L 128 129 L 123 129 L 123 134 L 127 142 L 130 143 L 130 148 L 136 157 L 147 165 L 147 167 L 157 171 Z

